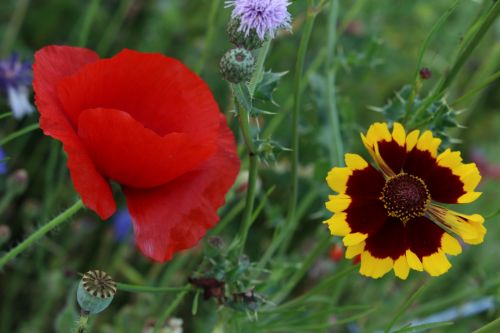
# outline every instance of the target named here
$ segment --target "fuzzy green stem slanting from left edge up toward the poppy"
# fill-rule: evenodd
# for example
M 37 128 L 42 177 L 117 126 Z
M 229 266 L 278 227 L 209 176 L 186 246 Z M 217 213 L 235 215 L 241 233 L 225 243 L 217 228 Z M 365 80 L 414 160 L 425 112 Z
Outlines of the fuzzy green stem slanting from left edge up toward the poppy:
M 80 199 L 75 202 L 73 206 L 69 207 L 67 210 L 59 214 L 59 216 L 55 217 L 49 223 L 45 224 L 43 227 L 35 231 L 31 236 L 26 238 L 15 248 L 13 248 L 0 258 L 0 269 L 5 266 L 5 264 L 7 264 L 10 260 L 14 259 L 17 255 L 30 247 L 34 242 L 45 236 L 45 234 L 47 234 L 49 231 L 58 227 L 63 222 L 68 221 L 76 212 L 78 212 L 83 207 L 83 202 Z

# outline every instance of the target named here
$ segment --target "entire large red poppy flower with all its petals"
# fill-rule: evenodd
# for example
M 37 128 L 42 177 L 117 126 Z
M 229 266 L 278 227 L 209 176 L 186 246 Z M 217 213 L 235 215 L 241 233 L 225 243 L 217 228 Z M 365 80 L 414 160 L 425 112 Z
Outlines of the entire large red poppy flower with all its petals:
M 35 54 L 40 127 L 64 145 L 76 191 L 101 218 L 110 181 L 132 215 L 136 243 L 165 261 L 218 220 L 239 170 L 234 137 L 208 86 L 178 60 L 124 50 L 48 46 Z

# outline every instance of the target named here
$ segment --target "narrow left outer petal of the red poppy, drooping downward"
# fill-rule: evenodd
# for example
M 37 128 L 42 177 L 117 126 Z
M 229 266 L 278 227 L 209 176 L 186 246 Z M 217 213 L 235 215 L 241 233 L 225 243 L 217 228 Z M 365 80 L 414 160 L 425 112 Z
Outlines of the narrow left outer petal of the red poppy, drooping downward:
M 96 53 L 87 49 L 45 47 L 35 53 L 33 88 L 35 103 L 40 112 L 40 127 L 46 135 L 63 143 L 76 191 L 88 208 L 106 219 L 116 207 L 111 188 L 86 153 L 56 94 L 56 85 L 61 79 L 98 59 Z

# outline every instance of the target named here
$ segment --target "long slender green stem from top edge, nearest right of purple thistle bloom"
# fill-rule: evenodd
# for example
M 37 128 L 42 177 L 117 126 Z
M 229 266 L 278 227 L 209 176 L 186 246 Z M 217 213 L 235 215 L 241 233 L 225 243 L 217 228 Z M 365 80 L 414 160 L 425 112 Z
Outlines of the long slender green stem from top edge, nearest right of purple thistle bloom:
M 312 1 L 309 0 L 309 7 L 307 11 L 306 21 L 304 23 L 304 32 L 300 40 L 299 51 L 297 54 L 297 62 L 295 64 L 295 77 L 294 77 L 294 105 L 292 110 L 292 156 L 291 156 L 291 191 L 288 202 L 288 216 L 287 221 L 284 225 L 283 231 L 289 231 L 287 237 L 291 237 L 293 231 L 297 226 L 296 210 L 297 210 L 297 198 L 299 193 L 299 112 L 301 107 L 302 99 L 302 73 L 304 69 L 304 62 L 306 58 L 307 48 L 309 45 L 309 39 L 314 27 L 314 21 L 316 19 L 316 12 L 312 8 Z

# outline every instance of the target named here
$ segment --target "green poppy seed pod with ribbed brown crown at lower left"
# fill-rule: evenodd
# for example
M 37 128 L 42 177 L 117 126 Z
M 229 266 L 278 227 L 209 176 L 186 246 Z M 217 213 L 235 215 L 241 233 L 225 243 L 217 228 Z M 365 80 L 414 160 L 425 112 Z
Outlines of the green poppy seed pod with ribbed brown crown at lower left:
M 116 283 L 103 271 L 88 271 L 78 285 L 76 298 L 80 308 L 89 314 L 106 309 L 116 294 Z

